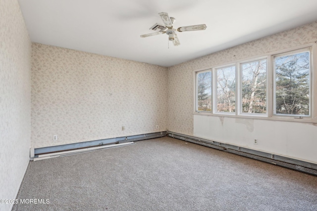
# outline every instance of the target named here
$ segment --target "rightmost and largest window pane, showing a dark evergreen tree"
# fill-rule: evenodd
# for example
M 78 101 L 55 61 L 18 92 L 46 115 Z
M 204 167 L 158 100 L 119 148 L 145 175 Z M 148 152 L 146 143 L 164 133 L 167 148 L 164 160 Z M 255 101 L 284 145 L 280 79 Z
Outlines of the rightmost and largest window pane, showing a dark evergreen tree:
M 310 115 L 310 53 L 277 56 L 275 114 Z

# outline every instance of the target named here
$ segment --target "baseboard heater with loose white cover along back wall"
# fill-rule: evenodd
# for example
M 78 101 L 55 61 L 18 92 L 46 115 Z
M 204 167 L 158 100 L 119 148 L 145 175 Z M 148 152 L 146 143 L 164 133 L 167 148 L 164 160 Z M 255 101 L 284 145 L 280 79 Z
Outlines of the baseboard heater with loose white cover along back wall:
M 166 131 L 146 133 L 140 135 L 123 136 L 116 138 L 107 138 L 94 141 L 79 142 L 73 144 L 64 144 L 59 146 L 42 147 L 30 149 L 30 160 L 38 161 L 53 157 L 77 154 L 93 150 L 106 149 L 133 144 L 134 141 L 146 140 L 151 138 L 159 138 L 166 136 Z

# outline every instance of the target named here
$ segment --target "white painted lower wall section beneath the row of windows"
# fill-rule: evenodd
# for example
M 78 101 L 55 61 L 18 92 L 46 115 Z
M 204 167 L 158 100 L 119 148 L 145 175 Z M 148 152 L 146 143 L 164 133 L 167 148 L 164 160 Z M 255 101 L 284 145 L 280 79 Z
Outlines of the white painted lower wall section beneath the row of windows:
M 194 115 L 194 135 L 317 164 L 316 123 Z

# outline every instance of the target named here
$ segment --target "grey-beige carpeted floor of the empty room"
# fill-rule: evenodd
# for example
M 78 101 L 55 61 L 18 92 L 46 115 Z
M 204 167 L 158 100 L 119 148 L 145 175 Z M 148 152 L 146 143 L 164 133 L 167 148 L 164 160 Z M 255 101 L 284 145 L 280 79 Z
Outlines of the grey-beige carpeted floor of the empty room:
M 317 177 L 170 137 L 30 162 L 13 211 L 317 211 Z

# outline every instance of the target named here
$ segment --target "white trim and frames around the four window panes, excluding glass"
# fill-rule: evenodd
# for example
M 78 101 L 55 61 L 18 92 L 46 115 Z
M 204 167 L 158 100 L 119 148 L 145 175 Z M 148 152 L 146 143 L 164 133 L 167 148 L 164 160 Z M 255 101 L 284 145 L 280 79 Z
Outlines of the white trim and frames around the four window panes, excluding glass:
M 311 48 L 311 81 L 310 81 L 310 91 L 311 91 L 311 116 L 310 117 L 303 117 L 303 119 L 299 119 L 296 117 L 292 117 L 292 116 L 276 116 L 273 115 L 273 107 L 275 106 L 273 103 L 273 56 L 277 55 L 277 54 L 283 54 L 283 53 L 287 53 L 287 52 L 291 52 L 291 51 L 303 51 L 305 48 Z M 259 119 L 259 120 L 271 120 L 271 121 L 287 121 L 287 122 L 299 122 L 299 123 L 317 123 L 317 56 L 315 56 L 315 54 L 317 54 L 317 42 L 311 42 L 311 43 L 307 43 L 307 44 L 303 44 L 303 45 L 299 45 L 299 46 L 294 46 L 294 47 L 290 47 L 287 49 L 283 49 L 283 50 L 276 50 L 273 52 L 269 52 L 266 54 L 262 54 L 262 55 L 258 55 L 258 56 L 252 56 L 246 59 L 239 59 L 236 60 L 234 62 L 230 62 L 230 63 L 224 63 L 224 64 L 219 64 L 219 65 L 213 65 L 210 67 L 206 67 L 206 68 L 200 68 L 200 69 L 196 69 L 193 71 L 193 85 L 194 85 L 194 89 L 193 89 L 193 96 L 194 96 L 194 111 L 193 111 L 193 115 L 205 115 L 205 116 L 215 116 L 215 117 L 229 117 L 229 118 L 243 118 L 243 119 Z M 256 60 L 260 60 L 261 58 L 265 58 L 267 59 L 267 91 L 266 91 L 266 115 L 262 115 L 262 114 L 247 114 L 247 113 L 240 113 L 240 95 L 241 95 L 241 91 L 240 91 L 240 64 L 241 63 L 245 63 L 248 61 L 256 61 Z M 227 114 L 224 112 L 215 112 L 215 106 L 214 106 L 214 101 L 215 101 L 215 83 L 216 83 L 216 75 L 215 75 L 215 68 L 221 68 L 221 67 L 226 67 L 226 66 L 232 66 L 232 65 L 236 65 L 236 80 L 237 83 L 236 85 L 238 87 L 236 87 L 236 112 L 235 114 Z M 196 84 L 196 74 L 197 72 L 202 72 L 202 71 L 209 71 L 211 70 L 211 85 L 212 85 L 212 90 L 211 90 L 211 112 L 198 112 L 197 111 L 197 106 L 196 106 L 196 89 L 197 89 L 197 84 Z M 237 101 L 239 100 L 239 101 Z

